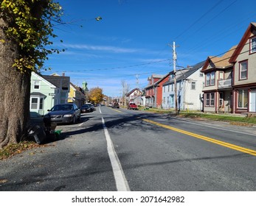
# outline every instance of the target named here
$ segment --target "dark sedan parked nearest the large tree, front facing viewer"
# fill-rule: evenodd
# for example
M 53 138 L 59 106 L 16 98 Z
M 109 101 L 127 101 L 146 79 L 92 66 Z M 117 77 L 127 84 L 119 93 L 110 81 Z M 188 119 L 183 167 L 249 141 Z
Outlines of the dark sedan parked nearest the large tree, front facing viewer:
M 44 124 L 63 124 L 80 121 L 80 109 L 76 104 L 56 104 L 44 116 Z

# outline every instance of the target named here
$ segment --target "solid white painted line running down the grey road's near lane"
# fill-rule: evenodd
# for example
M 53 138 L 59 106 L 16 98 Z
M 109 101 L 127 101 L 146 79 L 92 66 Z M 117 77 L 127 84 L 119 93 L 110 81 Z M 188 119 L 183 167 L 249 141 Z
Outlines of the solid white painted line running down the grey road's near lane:
M 107 141 L 108 156 L 111 161 L 111 166 L 114 173 L 114 180 L 116 181 L 116 185 L 117 185 L 117 191 L 130 191 L 128 182 L 125 178 L 125 174 L 122 171 L 120 160 L 117 157 L 116 151 L 114 150 L 114 145 L 111 141 L 110 135 L 108 133 L 108 129 L 107 127 L 105 127 L 105 121 L 103 117 L 102 117 L 102 121 L 103 121 L 103 129 L 105 132 L 105 139 Z

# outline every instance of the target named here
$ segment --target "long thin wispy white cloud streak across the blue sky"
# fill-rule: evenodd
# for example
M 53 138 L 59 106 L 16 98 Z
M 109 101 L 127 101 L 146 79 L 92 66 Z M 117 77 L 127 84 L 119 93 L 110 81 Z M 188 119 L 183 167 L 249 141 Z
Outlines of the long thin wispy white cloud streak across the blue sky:
M 90 51 L 110 51 L 114 53 L 135 53 L 141 52 L 142 49 L 128 49 L 117 46 L 93 46 L 87 44 L 63 44 L 67 49 L 86 49 Z

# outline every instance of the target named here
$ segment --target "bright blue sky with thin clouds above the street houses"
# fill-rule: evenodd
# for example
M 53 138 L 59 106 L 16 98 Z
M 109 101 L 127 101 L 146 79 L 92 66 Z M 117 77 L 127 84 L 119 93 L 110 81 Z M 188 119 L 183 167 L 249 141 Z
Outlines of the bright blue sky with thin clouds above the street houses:
M 255 0 L 59 2 L 69 24 L 55 27 L 54 46 L 66 51 L 50 55 L 52 71 L 42 74 L 64 71 L 75 85 L 86 81 L 107 96 L 121 96 L 122 81 L 144 88 L 151 74 L 172 71 L 173 41 L 177 65 L 186 67 L 229 50 L 256 21 Z

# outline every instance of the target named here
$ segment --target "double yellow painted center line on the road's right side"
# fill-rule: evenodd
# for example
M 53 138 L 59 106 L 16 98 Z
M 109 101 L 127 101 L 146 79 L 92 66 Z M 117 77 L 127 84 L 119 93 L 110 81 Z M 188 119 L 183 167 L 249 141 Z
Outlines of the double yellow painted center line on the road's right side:
M 198 134 L 193 133 L 193 132 L 187 132 L 185 130 L 177 129 L 175 127 L 170 127 L 166 124 L 161 124 L 159 122 L 151 121 L 151 120 L 148 120 L 148 119 L 145 119 L 145 118 L 142 119 L 142 120 L 147 121 L 148 123 L 151 123 L 151 124 L 155 124 L 159 127 L 164 127 L 166 129 L 170 129 L 170 130 L 173 130 L 173 131 L 176 131 L 176 132 L 180 132 L 184 135 L 190 135 L 193 138 L 198 138 L 198 139 L 201 139 L 201 140 L 204 140 L 204 141 L 208 141 L 208 142 L 211 142 L 211 143 L 215 143 L 215 144 L 218 144 L 218 145 L 221 145 L 221 146 L 228 147 L 229 149 L 234 149 L 234 150 L 237 150 L 239 152 L 243 152 L 243 153 L 246 153 L 246 154 L 252 154 L 253 156 L 256 156 L 256 151 L 252 150 L 252 149 L 247 149 L 247 148 L 244 148 L 242 146 L 237 146 L 237 145 L 232 144 L 232 143 L 226 143 L 224 141 L 218 141 L 218 140 L 215 140 L 213 138 L 208 138 L 208 137 L 205 137 L 203 135 L 198 135 Z

